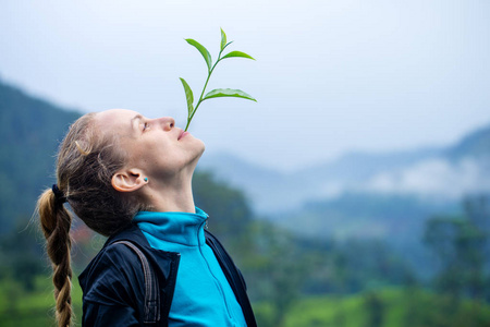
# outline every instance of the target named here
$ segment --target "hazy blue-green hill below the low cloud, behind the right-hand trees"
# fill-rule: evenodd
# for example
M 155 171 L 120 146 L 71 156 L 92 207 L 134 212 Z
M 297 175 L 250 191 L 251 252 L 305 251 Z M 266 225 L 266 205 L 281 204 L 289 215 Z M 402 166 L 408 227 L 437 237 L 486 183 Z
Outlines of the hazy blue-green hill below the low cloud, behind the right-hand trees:
M 277 217 L 275 221 L 289 230 L 302 233 L 304 238 L 331 238 L 339 246 L 342 243 L 352 245 L 352 249 L 350 245 L 343 246 L 342 252 L 350 253 L 353 265 L 346 266 L 346 269 L 352 275 L 357 275 L 357 280 L 363 279 L 363 274 L 355 268 L 354 247 L 360 251 L 357 254 L 358 264 L 370 265 L 372 271 L 382 271 L 382 266 L 377 268 L 373 263 L 379 261 L 380 254 L 383 255 L 391 267 L 387 274 L 377 276 L 391 283 L 401 280 L 404 275 L 403 266 L 407 269 L 412 266 L 417 278 L 429 279 L 436 267 L 420 242 L 425 221 L 437 213 L 458 210 L 458 205 L 434 204 L 411 196 L 352 193 L 311 202 L 298 210 Z M 351 283 L 354 286 L 355 280 Z

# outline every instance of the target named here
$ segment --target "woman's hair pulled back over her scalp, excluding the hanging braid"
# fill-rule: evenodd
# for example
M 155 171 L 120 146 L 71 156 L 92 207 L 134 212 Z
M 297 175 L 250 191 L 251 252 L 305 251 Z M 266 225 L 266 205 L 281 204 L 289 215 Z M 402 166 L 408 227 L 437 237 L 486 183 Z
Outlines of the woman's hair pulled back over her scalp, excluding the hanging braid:
M 58 187 L 73 211 L 102 235 L 124 228 L 138 209 L 111 185 L 112 175 L 124 161 L 119 137 L 98 129 L 97 113 L 73 123 L 58 153 Z

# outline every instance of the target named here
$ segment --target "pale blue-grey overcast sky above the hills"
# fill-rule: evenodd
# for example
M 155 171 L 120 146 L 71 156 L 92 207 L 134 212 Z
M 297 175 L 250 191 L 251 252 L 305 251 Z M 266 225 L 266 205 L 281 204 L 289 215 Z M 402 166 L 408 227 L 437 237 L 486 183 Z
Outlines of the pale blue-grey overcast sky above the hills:
M 82 112 L 125 108 L 184 126 L 179 77 L 258 102 L 212 99 L 189 132 L 291 171 L 351 150 L 448 146 L 490 124 L 487 0 L 0 0 L 0 78 Z M 206 154 L 205 154 L 206 155 Z

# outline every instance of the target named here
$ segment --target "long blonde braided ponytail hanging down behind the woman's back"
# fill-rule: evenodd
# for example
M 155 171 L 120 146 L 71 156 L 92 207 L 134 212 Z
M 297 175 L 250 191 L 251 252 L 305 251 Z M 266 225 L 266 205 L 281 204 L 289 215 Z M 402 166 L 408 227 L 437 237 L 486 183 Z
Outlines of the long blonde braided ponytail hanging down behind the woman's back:
M 47 242 L 47 253 L 52 262 L 52 282 L 59 327 L 71 325 L 72 311 L 72 268 L 70 265 L 70 227 L 72 216 L 63 202 L 52 190 L 46 190 L 37 202 L 40 226 Z

